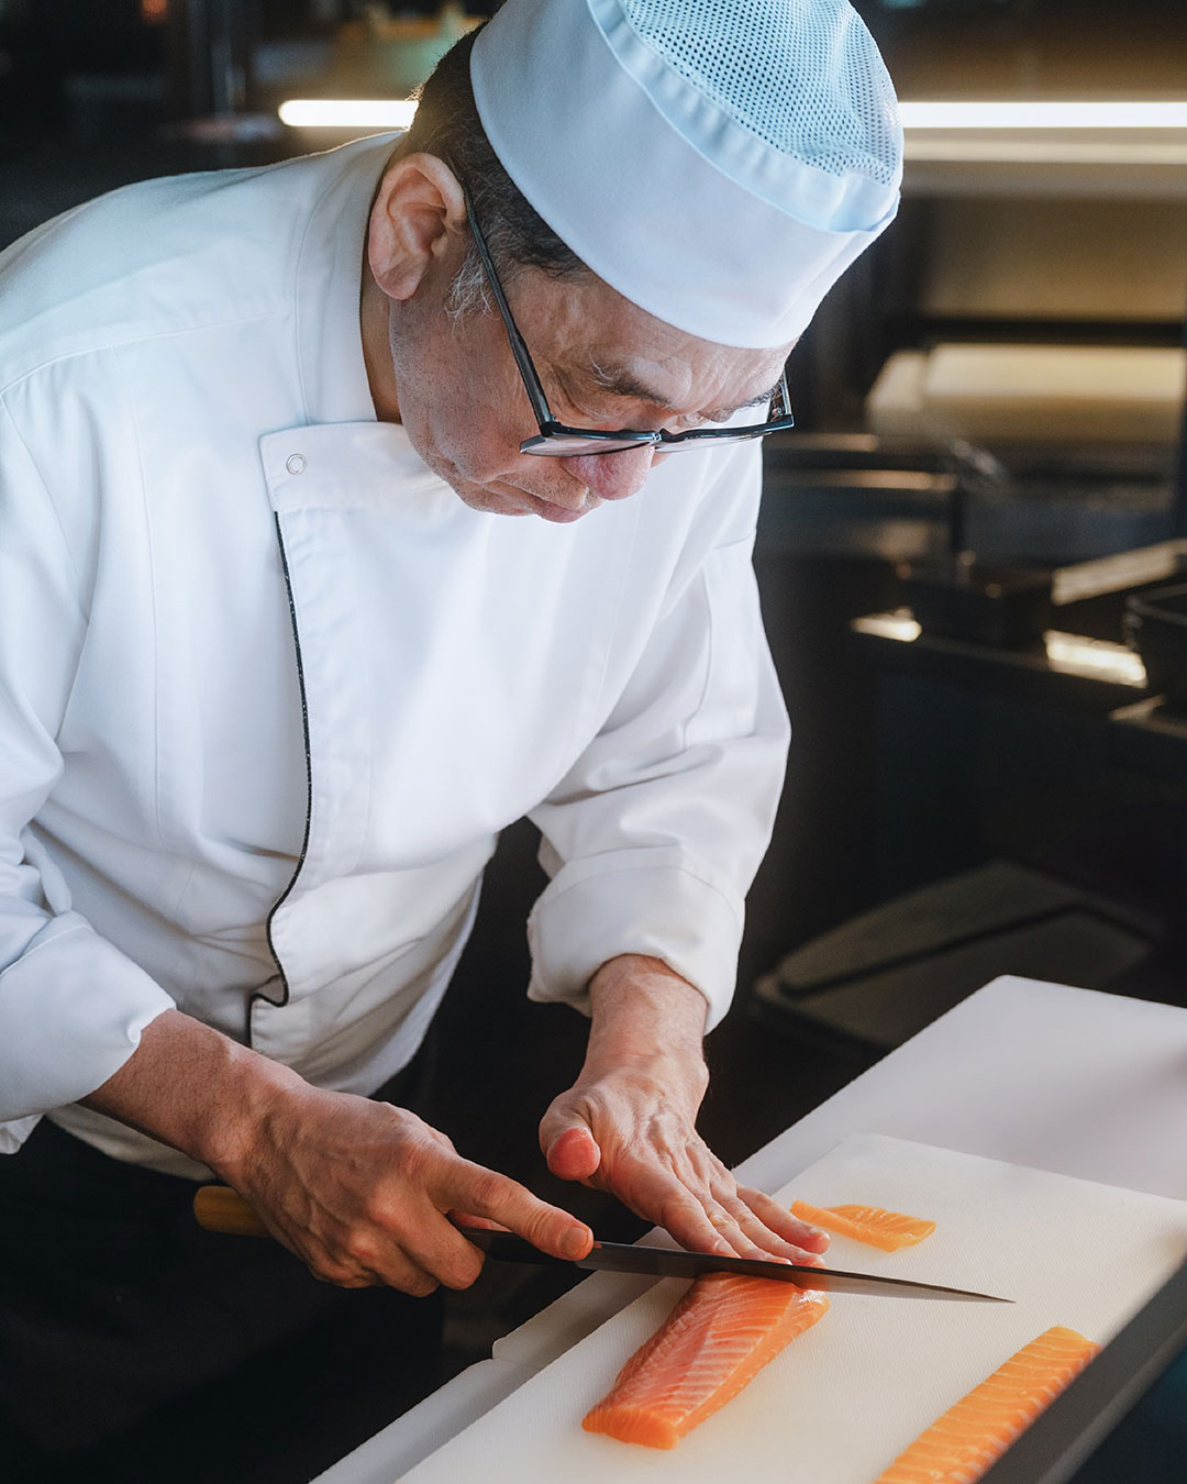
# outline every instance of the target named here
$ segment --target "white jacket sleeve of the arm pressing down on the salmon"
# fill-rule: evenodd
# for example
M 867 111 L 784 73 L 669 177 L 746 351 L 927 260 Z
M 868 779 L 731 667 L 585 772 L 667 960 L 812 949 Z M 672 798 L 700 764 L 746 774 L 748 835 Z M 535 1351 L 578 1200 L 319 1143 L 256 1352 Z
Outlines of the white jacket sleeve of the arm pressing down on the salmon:
M 751 522 L 757 478 L 739 502 Z M 789 727 L 758 610 L 754 530 L 727 527 L 681 574 L 598 736 L 533 812 L 550 876 L 528 922 L 533 999 L 588 1009 L 596 969 L 638 953 L 705 994 L 709 1025 L 729 1008 Z

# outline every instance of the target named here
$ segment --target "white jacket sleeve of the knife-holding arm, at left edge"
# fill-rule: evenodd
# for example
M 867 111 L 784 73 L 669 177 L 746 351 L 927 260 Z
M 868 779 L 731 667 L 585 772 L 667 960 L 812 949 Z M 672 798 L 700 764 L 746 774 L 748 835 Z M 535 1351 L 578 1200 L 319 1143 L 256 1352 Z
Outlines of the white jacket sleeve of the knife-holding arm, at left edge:
M 93 1092 L 172 999 L 71 910 L 30 822 L 62 775 L 56 736 L 86 641 L 93 542 L 62 528 L 0 398 L 0 1153 Z

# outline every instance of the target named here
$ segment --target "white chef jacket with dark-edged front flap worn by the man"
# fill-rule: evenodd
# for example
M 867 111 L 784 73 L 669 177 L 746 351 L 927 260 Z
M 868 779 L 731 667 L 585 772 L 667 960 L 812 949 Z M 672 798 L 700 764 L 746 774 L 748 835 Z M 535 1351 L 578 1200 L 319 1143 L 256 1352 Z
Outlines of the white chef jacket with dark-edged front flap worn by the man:
M 758 445 L 574 525 L 469 509 L 375 420 L 361 254 L 392 138 L 131 186 L 0 255 L 0 1144 L 171 1006 L 319 1086 L 415 1051 L 499 831 L 530 994 L 620 953 L 733 987 L 786 715 Z

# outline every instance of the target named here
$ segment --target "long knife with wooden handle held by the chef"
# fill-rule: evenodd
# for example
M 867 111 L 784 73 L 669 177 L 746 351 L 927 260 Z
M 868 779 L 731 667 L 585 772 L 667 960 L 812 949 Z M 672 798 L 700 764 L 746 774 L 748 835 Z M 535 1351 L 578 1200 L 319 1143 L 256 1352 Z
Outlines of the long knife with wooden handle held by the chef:
M 208 1232 L 240 1236 L 267 1236 L 269 1230 L 248 1202 L 228 1186 L 200 1186 L 194 1193 L 194 1217 Z M 883 1278 L 880 1273 L 844 1273 L 835 1267 L 800 1263 L 764 1263 L 752 1257 L 718 1257 L 717 1252 L 685 1252 L 678 1247 L 631 1247 L 626 1242 L 595 1242 L 588 1257 L 573 1261 L 550 1257 L 512 1232 L 456 1223 L 466 1241 L 488 1257 L 504 1263 L 534 1263 L 543 1267 L 583 1267 L 611 1273 L 647 1273 L 653 1278 L 700 1278 L 702 1273 L 742 1273 L 748 1278 L 775 1278 L 831 1294 L 881 1294 L 887 1298 L 950 1298 L 963 1303 L 1013 1303 L 967 1288 L 917 1284 L 910 1278 Z

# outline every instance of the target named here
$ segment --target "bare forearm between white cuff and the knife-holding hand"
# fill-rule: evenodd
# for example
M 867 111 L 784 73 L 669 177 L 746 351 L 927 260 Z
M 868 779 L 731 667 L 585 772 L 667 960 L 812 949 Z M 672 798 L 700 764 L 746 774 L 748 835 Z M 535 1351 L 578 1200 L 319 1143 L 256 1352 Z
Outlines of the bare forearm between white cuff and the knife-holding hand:
M 295 1071 L 172 1009 L 145 1025 L 137 1051 L 82 1101 L 227 1174 L 252 1131 L 301 1088 Z

